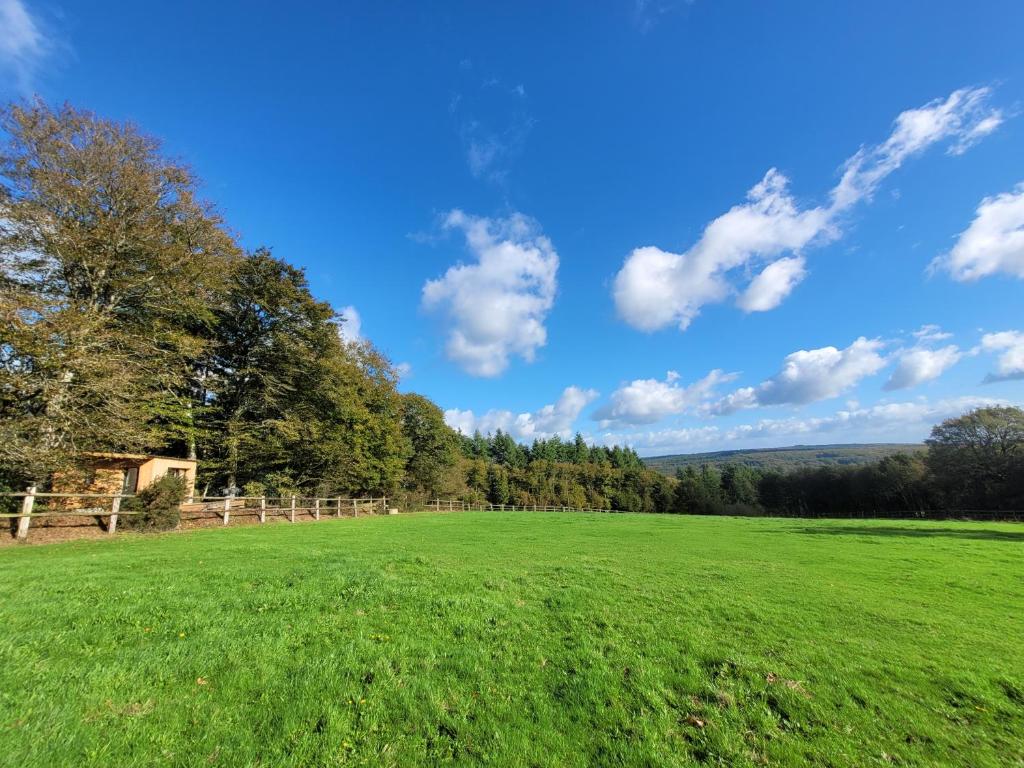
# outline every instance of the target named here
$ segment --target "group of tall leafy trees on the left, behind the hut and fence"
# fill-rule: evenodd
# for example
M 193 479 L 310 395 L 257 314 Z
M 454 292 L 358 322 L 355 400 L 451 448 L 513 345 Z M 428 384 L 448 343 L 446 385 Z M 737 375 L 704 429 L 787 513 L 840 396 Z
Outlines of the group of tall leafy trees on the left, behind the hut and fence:
M 406 420 L 390 362 L 340 340 L 301 269 L 243 255 L 159 141 L 41 101 L 0 120 L 0 464 L 19 485 L 131 451 L 197 458 L 215 493 L 439 487 L 436 414 Z

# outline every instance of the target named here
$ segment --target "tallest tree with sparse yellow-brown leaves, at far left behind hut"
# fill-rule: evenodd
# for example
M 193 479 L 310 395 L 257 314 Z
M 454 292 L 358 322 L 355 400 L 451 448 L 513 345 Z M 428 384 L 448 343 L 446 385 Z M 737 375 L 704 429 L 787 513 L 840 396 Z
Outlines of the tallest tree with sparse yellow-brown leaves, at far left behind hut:
M 26 478 L 194 434 L 193 362 L 237 248 L 130 124 L 0 112 L 0 460 Z

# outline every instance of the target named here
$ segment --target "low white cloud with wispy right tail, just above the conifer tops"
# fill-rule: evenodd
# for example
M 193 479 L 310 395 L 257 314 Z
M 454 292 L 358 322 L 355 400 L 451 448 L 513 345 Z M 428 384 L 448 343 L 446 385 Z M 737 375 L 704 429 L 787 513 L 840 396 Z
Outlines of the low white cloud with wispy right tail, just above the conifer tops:
M 636 379 L 612 392 L 609 401 L 594 413 L 602 429 L 609 426 L 653 424 L 667 416 L 700 406 L 715 393 L 715 386 L 735 378 L 715 370 L 689 386 L 680 386 L 679 374 L 670 371 L 665 381 Z

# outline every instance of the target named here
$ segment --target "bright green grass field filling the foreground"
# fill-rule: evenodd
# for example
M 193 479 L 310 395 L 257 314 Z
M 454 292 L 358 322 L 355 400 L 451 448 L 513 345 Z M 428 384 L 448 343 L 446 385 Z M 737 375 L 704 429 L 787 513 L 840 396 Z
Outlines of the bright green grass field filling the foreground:
M 1024 764 L 1024 526 L 419 514 L 0 551 L 0 765 Z

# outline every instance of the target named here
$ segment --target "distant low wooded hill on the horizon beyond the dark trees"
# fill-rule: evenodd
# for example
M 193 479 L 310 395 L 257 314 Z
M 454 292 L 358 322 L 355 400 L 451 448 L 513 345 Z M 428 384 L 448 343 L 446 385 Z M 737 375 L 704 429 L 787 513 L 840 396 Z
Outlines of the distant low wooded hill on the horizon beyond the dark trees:
M 745 464 L 758 469 L 775 469 L 787 472 L 807 467 L 825 467 L 840 464 L 868 464 L 894 454 L 921 451 L 924 445 L 905 442 L 866 442 L 841 445 L 792 445 L 780 449 L 753 449 L 750 451 L 716 451 L 710 454 L 674 454 L 651 456 L 643 459 L 650 469 L 675 475 L 676 469 L 687 465 L 708 464 L 721 469 L 726 464 Z

